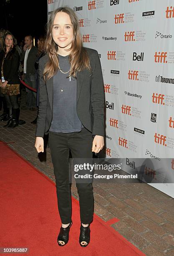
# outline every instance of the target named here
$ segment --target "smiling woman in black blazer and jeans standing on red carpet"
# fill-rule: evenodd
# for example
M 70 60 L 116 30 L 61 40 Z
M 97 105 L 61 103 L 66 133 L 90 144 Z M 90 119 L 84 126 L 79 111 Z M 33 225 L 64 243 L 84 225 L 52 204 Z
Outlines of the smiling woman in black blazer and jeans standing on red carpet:
M 55 10 L 48 21 L 46 55 L 39 61 L 39 111 L 35 148 L 44 151 L 44 134 L 54 166 L 61 228 L 58 245 L 68 243 L 71 220 L 69 151 L 73 159 L 92 158 L 104 146 L 104 90 L 98 52 L 83 47 L 76 13 Z M 79 243 L 90 242 L 92 183 L 76 183 L 81 227 Z

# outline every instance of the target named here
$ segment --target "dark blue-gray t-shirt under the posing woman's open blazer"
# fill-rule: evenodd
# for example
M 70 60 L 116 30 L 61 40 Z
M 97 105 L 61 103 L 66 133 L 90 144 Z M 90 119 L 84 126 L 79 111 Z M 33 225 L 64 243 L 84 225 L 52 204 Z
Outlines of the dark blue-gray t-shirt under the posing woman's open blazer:
M 58 55 L 59 67 L 63 72 L 70 70 L 67 56 Z M 83 127 L 76 110 L 77 81 L 58 69 L 53 77 L 53 119 L 49 131 L 72 133 Z

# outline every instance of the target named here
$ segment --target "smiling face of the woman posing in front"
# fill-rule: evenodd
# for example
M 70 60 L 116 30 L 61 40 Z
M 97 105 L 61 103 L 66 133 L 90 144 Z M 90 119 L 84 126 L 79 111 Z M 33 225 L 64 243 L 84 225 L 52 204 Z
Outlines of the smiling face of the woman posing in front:
M 73 41 L 73 26 L 68 14 L 59 12 L 55 15 L 52 36 L 55 44 L 63 49 L 69 49 Z

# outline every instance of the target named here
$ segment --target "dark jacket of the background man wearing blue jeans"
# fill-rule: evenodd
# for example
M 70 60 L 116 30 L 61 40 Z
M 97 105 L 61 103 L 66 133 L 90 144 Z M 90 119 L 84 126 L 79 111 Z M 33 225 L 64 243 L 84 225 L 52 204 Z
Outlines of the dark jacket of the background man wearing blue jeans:
M 32 46 L 28 58 L 27 58 L 27 68 L 26 68 L 26 74 L 35 74 L 36 69 L 35 69 L 35 61 L 38 59 L 38 48 L 36 46 Z M 20 54 L 20 61 L 24 61 L 25 59 L 25 51 L 22 51 Z

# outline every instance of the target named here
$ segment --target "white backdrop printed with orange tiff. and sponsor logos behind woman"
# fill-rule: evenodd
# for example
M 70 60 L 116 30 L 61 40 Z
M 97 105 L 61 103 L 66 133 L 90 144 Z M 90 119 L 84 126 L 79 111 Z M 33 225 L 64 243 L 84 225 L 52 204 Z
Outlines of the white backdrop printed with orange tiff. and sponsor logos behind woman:
M 174 0 L 48 0 L 48 18 L 61 6 L 76 12 L 84 46 L 101 60 L 106 157 L 127 158 L 126 172 L 142 158 L 159 166 L 174 157 Z M 174 175 L 174 159 L 166 168 Z M 156 170 L 146 163 L 144 173 L 174 197 L 165 175 L 154 184 Z

